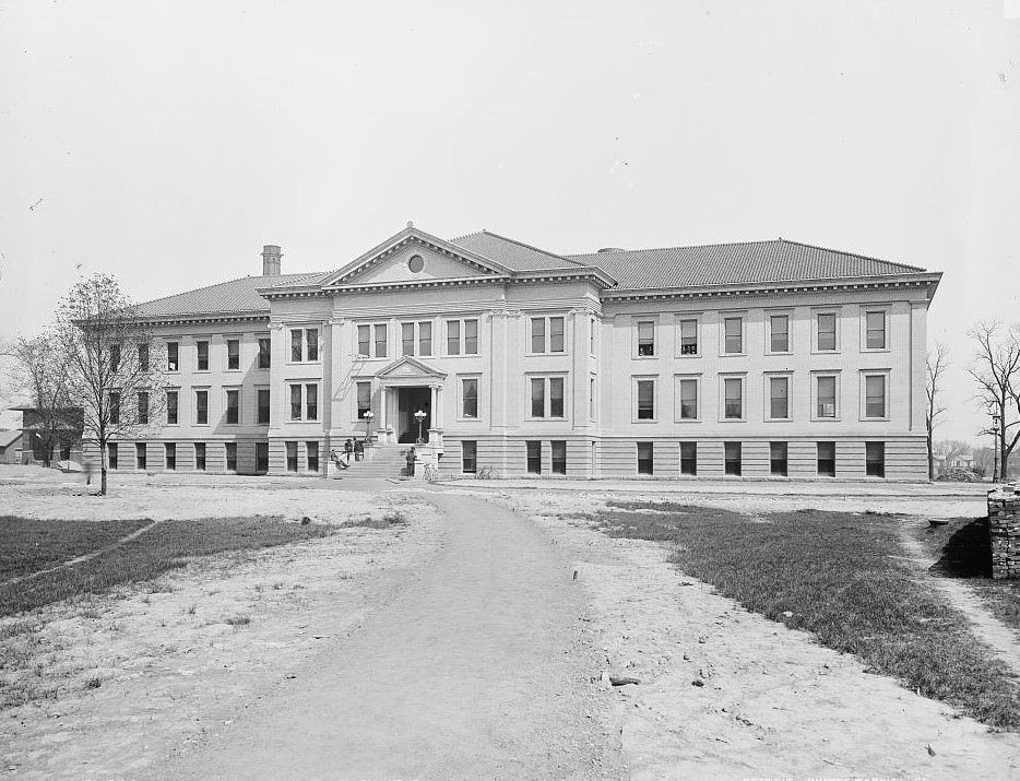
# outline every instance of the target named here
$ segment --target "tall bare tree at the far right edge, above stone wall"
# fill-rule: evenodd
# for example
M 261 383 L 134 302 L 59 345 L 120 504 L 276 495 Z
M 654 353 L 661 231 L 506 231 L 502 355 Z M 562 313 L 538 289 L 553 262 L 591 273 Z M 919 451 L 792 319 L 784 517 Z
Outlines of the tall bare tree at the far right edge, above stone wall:
M 1020 331 L 1016 326 L 1003 331 L 998 320 L 982 320 L 970 330 L 976 350 L 968 371 L 977 381 L 977 399 L 992 418 L 980 434 L 995 435 L 1005 476 L 1009 454 L 1020 440 Z

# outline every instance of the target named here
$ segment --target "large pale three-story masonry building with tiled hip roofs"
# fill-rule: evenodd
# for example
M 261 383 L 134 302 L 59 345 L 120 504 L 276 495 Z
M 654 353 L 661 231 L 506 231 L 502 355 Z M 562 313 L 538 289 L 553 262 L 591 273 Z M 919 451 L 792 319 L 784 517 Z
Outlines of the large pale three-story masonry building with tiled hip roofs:
M 782 239 L 559 256 L 411 225 L 333 271 L 281 257 L 139 307 L 166 413 L 111 468 L 324 473 L 370 434 L 444 476 L 927 477 L 938 273 Z

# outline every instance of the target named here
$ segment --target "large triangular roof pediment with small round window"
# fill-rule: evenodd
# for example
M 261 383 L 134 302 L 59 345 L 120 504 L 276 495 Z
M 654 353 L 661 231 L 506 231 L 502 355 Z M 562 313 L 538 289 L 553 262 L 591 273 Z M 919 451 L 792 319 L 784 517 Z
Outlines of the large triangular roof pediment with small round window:
M 444 239 L 406 227 L 331 274 L 323 287 L 510 275 L 509 269 Z

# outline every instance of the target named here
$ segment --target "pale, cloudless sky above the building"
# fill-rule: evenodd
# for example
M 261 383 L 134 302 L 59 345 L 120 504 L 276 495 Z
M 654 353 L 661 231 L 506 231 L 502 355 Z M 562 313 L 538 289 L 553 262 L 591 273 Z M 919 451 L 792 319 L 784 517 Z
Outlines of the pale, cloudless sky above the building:
M 0 0 L 0 340 L 80 274 L 147 300 L 408 220 L 941 271 L 937 436 L 976 441 L 966 331 L 1020 321 L 1020 0 Z

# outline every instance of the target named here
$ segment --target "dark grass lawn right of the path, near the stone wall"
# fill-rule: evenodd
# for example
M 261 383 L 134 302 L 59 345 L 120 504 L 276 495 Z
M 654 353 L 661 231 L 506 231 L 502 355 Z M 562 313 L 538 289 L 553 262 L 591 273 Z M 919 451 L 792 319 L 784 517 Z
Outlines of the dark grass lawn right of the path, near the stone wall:
M 594 519 L 604 533 L 674 543 L 680 570 L 747 610 L 814 632 L 871 672 L 989 726 L 1020 730 L 1017 681 L 977 643 L 964 616 L 898 558 L 896 521 L 819 510 L 751 519 L 675 502 L 609 504 Z

